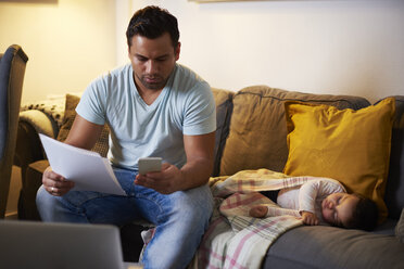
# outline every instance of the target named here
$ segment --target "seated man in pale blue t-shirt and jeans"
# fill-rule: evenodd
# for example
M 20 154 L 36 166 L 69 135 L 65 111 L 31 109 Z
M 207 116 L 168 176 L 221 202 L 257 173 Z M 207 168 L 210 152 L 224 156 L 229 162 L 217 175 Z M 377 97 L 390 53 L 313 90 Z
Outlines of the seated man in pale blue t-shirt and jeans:
M 90 84 L 77 105 L 66 143 L 91 149 L 110 126 L 109 158 L 128 196 L 71 189 L 49 167 L 37 194 L 45 221 L 113 223 L 147 219 L 156 226 L 144 268 L 185 268 L 212 214 L 215 104 L 209 85 L 176 63 L 177 20 L 147 7 L 127 33 L 131 64 Z M 161 172 L 138 175 L 139 157 L 163 158 Z

